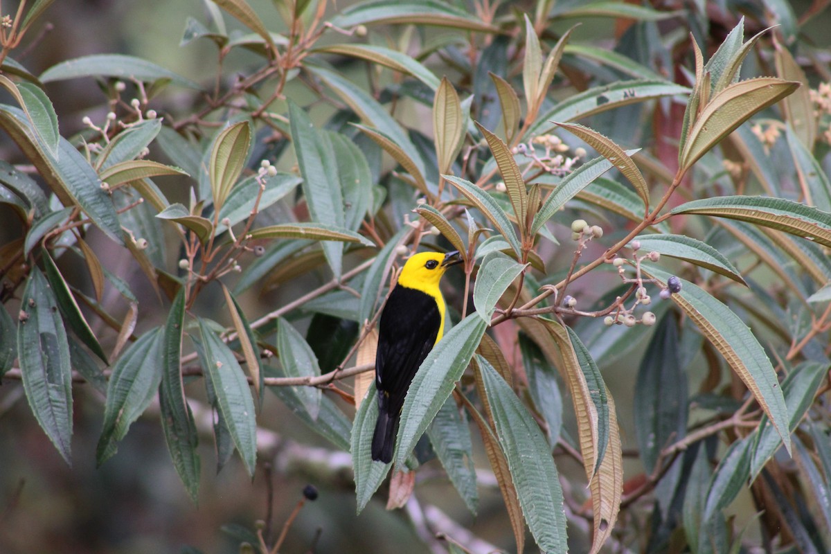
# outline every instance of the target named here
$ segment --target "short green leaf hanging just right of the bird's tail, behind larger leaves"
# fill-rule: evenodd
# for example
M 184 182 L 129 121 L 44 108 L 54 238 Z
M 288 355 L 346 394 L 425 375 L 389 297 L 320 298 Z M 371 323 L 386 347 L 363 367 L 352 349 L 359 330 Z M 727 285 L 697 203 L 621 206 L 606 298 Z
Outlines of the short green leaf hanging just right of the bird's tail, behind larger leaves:
M 465 413 L 456 408 L 453 399 L 447 399 L 427 428 L 436 458 L 445 468 L 470 513 L 476 515 L 479 494 L 476 492 L 476 468 L 473 463 L 473 444 Z

